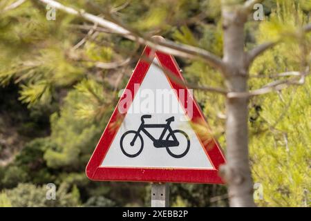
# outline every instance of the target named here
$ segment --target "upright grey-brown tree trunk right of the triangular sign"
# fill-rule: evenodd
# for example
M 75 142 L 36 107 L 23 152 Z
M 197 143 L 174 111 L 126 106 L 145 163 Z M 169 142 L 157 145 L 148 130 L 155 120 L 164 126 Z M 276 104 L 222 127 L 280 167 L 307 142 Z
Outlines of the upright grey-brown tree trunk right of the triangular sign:
M 225 81 L 230 92 L 246 92 L 248 67 L 244 52 L 247 15 L 236 8 L 223 8 Z M 255 206 L 248 158 L 248 99 L 227 98 L 227 164 L 222 173 L 228 184 L 230 206 Z

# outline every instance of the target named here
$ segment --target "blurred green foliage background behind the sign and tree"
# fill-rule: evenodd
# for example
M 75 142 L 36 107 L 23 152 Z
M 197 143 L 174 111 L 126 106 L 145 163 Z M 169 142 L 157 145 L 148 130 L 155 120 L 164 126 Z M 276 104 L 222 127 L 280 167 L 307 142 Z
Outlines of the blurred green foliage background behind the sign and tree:
M 59 2 L 222 57 L 218 0 Z M 13 3 L 0 1 L 0 206 L 150 206 L 150 184 L 93 182 L 84 173 L 144 47 L 39 1 Z M 263 19 L 249 19 L 246 49 L 285 38 L 256 59 L 249 88 L 299 68 L 299 44 L 308 46 L 311 61 L 311 35 L 291 35 L 310 23 L 310 9 L 308 0 L 266 0 Z M 176 59 L 187 81 L 223 86 L 205 62 Z M 225 149 L 224 97 L 194 94 Z M 310 103 L 310 77 L 249 102 L 252 175 L 263 193 L 258 206 L 310 206 Z M 46 198 L 49 183 L 56 200 Z M 171 184 L 171 206 L 227 206 L 227 198 L 225 185 Z

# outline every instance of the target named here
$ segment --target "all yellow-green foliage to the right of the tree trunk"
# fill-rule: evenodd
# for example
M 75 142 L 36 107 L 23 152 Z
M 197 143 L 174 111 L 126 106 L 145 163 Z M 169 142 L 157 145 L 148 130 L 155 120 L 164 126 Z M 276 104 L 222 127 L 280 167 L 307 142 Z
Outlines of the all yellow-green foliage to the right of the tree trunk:
M 256 59 L 250 75 L 261 78 L 251 78 L 250 88 L 268 84 L 276 73 L 299 70 L 303 59 L 310 63 L 310 55 L 301 56 L 310 50 L 310 38 L 296 32 L 308 18 L 294 3 L 284 1 L 260 24 L 258 42 L 282 37 L 285 44 Z M 310 85 L 306 77 L 304 86 L 252 99 L 250 154 L 254 182 L 263 185 L 263 200 L 257 202 L 261 206 L 310 206 Z

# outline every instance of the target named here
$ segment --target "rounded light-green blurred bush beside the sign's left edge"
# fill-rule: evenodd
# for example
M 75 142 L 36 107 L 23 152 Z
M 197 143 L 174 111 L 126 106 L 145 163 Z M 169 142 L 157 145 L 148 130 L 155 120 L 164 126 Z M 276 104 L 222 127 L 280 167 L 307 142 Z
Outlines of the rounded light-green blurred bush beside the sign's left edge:
M 94 122 L 94 118 L 103 119 L 111 113 L 107 99 L 109 97 L 104 96 L 102 86 L 95 81 L 84 80 L 68 93 L 61 114 L 54 113 L 50 118 L 50 137 L 56 148 L 48 148 L 44 154 L 48 166 L 85 165 L 92 146 L 102 133 L 99 122 Z

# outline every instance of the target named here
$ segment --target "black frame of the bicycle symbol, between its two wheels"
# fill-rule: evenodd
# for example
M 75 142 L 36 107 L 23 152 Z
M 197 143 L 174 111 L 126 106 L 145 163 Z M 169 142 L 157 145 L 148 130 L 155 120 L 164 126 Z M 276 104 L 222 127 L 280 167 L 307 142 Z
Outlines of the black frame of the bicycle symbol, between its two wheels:
M 144 122 L 142 122 L 140 124 L 140 127 L 138 128 L 136 135 L 133 137 L 131 144 L 135 143 L 135 140 L 137 139 L 138 134 L 140 134 L 140 132 L 142 131 L 142 132 L 144 132 L 145 135 L 147 135 L 147 137 L 150 138 L 150 140 L 153 141 L 153 145 L 155 147 L 166 147 L 167 145 L 178 146 L 179 142 L 176 139 L 176 136 L 174 135 L 173 130 L 171 129 L 170 123 L 171 122 L 167 122 L 167 124 L 144 124 Z M 164 129 L 163 129 L 159 139 L 156 140 L 156 138 L 154 138 L 153 135 L 151 135 L 151 133 L 149 133 L 146 130 L 146 128 L 164 128 Z M 173 140 L 169 140 L 169 141 L 163 140 L 163 137 L 164 137 L 165 133 L 167 133 L 167 130 L 169 130 L 169 134 L 171 135 Z

